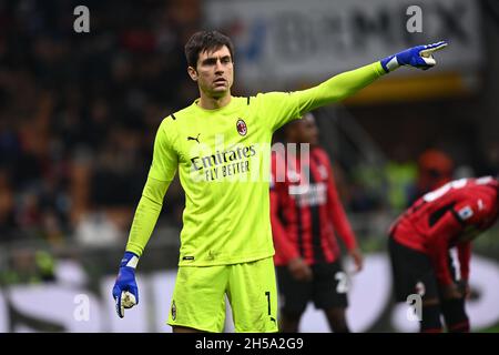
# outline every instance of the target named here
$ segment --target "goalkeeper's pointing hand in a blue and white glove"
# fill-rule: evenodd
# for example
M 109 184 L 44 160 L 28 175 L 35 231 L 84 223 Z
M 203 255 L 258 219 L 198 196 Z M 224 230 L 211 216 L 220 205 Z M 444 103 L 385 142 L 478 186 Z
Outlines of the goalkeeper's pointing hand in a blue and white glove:
M 418 69 L 427 70 L 437 63 L 434 52 L 447 47 L 447 41 L 440 41 L 432 44 L 417 45 L 397 54 L 381 59 L 381 67 L 388 73 L 400 65 L 410 65 Z

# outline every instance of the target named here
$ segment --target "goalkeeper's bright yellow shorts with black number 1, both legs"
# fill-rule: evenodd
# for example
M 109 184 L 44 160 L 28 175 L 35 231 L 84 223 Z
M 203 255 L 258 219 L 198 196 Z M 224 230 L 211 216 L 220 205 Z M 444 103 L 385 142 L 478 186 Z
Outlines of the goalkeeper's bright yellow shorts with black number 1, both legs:
M 180 266 L 170 325 L 223 332 L 225 294 L 236 332 L 277 332 L 277 290 L 273 257 L 221 266 Z

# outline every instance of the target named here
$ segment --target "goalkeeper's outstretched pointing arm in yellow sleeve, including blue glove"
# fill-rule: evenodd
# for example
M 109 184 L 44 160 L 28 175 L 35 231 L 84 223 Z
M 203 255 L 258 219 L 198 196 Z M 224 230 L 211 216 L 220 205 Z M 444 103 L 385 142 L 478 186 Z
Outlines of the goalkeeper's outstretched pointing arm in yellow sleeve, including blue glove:
M 371 64 L 337 74 L 310 89 L 289 93 L 267 93 L 265 114 L 276 130 L 289 120 L 301 118 L 305 112 L 354 95 L 376 79 L 401 65 L 429 69 L 436 64 L 432 53 L 446 45 L 445 41 L 417 45 Z

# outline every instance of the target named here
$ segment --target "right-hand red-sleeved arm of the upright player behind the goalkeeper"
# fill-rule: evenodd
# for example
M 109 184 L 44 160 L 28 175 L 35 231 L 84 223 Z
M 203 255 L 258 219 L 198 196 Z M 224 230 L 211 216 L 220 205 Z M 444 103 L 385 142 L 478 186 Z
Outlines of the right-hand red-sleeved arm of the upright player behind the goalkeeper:
M 338 196 L 338 191 L 336 189 L 335 179 L 333 175 L 333 170 L 329 168 L 329 179 L 327 182 L 327 207 L 329 211 L 330 219 L 335 230 L 338 232 L 339 237 L 346 245 L 348 254 L 353 257 L 356 271 L 363 268 L 363 255 L 357 245 L 357 240 L 354 232 L 352 231 L 350 223 L 343 207 L 342 201 Z

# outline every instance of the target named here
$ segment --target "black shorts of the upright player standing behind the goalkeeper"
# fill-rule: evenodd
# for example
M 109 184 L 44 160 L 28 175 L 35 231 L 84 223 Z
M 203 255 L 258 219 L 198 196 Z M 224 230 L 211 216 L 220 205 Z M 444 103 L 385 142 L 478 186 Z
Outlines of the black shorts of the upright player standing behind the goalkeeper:
M 346 308 L 347 275 L 337 261 L 330 264 L 312 265 L 314 275 L 310 282 L 301 282 L 293 277 L 287 266 L 277 266 L 277 288 L 281 310 L 284 313 L 303 314 L 307 303 L 313 301 L 316 308 Z

